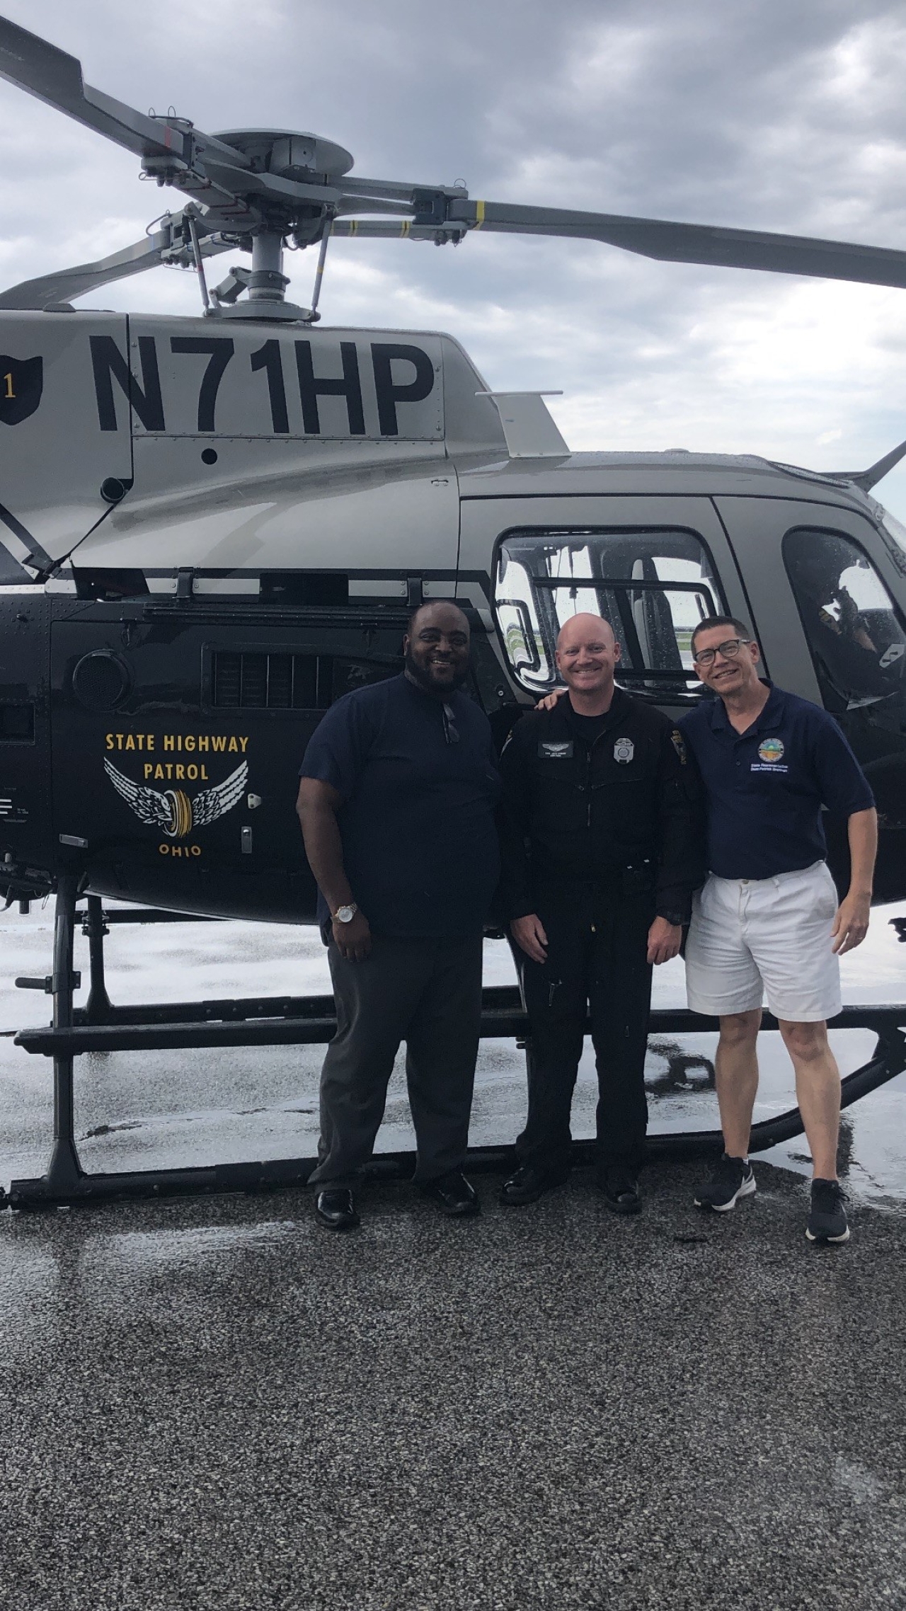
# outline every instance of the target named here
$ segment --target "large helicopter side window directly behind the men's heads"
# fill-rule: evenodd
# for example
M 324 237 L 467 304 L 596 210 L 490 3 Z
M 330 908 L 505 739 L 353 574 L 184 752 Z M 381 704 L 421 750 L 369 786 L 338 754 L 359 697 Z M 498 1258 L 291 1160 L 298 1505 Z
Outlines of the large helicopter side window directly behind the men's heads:
M 711 559 L 692 532 L 509 532 L 497 562 L 495 612 L 513 673 L 530 693 L 556 683 L 556 636 L 588 611 L 611 622 L 617 681 L 685 702 L 701 693 L 692 632 L 724 609 Z

